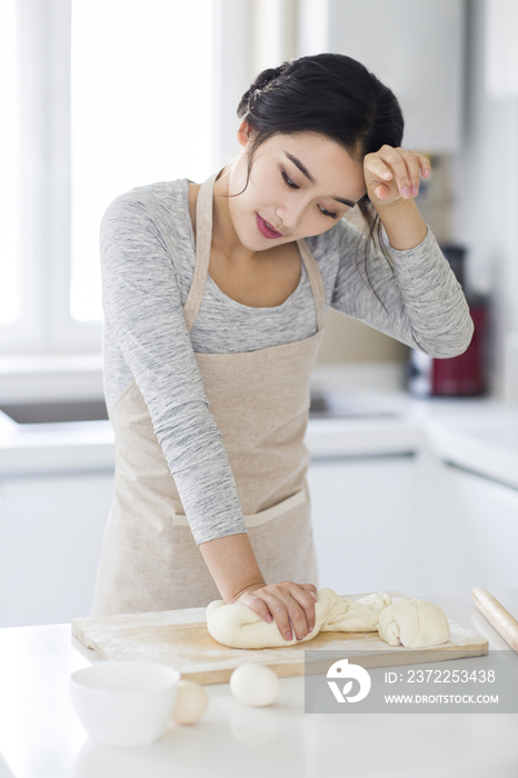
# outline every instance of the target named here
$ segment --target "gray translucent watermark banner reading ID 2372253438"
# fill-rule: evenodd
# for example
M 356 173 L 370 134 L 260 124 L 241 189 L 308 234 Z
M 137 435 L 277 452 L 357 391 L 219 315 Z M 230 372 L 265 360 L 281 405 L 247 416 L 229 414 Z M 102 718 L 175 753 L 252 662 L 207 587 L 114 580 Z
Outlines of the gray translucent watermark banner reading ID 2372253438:
M 475 648 L 462 657 L 454 648 L 441 651 L 440 661 L 401 659 L 398 665 L 398 657 L 368 650 L 305 651 L 305 712 L 518 712 L 516 654 L 510 648 L 487 654 Z

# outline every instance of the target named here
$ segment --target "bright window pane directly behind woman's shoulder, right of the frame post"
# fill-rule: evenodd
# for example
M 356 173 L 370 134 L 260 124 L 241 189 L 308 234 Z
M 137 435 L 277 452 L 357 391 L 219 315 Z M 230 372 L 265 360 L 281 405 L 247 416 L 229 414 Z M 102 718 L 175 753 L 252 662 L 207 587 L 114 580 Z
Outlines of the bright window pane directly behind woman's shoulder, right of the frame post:
M 71 315 L 91 321 L 110 201 L 211 172 L 212 1 L 72 0 L 71 30 Z

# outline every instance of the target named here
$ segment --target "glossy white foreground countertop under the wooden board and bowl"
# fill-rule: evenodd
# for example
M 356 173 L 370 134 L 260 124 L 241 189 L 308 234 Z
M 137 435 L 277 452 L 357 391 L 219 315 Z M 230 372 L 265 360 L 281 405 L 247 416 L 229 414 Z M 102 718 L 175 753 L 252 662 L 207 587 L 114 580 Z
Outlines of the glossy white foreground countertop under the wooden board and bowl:
M 518 614 L 518 589 L 492 594 Z M 434 601 L 486 637 L 490 650 L 506 647 L 470 592 Z M 506 657 L 518 672 L 518 655 L 508 650 Z M 70 625 L 1 629 L 0 659 L 1 778 L 518 774 L 518 714 L 305 714 L 301 677 L 282 678 L 276 704 L 261 709 L 239 704 L 228 684 L 208 686 L 209 707 L 195 726 L 170 725 L 145 748 L 99 747 L 87 739 L 68 689 L 71 672 L 99 660 L 72 638 Z

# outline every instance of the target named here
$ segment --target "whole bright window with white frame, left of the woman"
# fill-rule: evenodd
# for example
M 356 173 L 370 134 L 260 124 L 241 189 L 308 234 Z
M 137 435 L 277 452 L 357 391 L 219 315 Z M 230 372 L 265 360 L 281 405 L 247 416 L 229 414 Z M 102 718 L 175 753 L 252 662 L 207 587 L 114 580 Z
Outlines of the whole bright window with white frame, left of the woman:
M 0 3 L 0 351 L 94 352 L 98 236 L 132 187 L 212 170 L 213 0 Z

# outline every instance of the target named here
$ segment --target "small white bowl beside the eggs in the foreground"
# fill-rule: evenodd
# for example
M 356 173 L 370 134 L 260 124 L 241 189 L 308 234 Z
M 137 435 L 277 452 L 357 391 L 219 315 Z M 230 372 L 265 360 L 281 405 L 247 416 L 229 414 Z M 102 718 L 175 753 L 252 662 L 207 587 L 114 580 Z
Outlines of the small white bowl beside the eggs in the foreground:
M 89 737 L 103 746 L 159 740 L 177 699 L 180 672 L 166 665 L 102 661 L 73 672 L 72 700 Z

